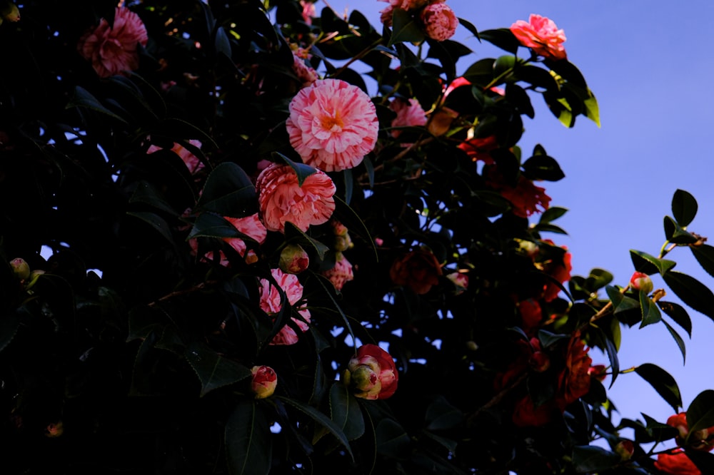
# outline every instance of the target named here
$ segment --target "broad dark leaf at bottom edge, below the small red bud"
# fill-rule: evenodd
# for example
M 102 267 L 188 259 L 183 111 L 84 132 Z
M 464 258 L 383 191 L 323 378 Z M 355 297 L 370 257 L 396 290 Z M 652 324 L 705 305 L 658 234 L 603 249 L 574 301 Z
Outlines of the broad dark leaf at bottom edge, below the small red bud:
M 273 458 L 270 425 L 256 402 L 238 402 L 226 422 L 225 439 L 231 475 L 268 474 Z

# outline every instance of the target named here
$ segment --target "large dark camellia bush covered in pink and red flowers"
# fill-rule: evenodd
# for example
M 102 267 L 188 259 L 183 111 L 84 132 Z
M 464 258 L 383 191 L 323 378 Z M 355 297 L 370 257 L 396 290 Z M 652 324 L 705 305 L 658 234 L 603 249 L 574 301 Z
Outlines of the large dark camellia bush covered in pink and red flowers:
M 533 101 L 599 124 L 563 30 L 363 8 L 0 0 L 3 474 L 714 473 L 714 391 L 618 363 L 714 318 L 695 198 L 631 278 L 570 275 L 518 145 Z

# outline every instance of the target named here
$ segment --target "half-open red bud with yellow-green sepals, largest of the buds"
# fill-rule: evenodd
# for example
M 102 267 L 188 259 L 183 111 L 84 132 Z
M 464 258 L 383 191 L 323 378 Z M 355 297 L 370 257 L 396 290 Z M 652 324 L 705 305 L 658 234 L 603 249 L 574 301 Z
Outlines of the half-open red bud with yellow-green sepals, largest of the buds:
M 399 374 L 391 355 L 376 344 L 363 344 L 350 359 L 343 380 L 363 399 L 386 399 L 397 390 Z

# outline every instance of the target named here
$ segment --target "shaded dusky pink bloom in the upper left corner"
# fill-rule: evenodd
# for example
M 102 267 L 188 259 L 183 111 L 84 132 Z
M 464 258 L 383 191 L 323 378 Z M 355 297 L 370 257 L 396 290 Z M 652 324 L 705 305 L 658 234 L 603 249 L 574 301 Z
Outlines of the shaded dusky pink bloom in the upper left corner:
M 77 49 L 91 61 L 99 77 L 108 78 L 139 68 L 136 44 L 146 46 L 147 41 L 149 36 L 139 15 L 118 6 L 114 25 L 110 26 L 108 21 L 101 19 L 99 26 L 81 36 Z

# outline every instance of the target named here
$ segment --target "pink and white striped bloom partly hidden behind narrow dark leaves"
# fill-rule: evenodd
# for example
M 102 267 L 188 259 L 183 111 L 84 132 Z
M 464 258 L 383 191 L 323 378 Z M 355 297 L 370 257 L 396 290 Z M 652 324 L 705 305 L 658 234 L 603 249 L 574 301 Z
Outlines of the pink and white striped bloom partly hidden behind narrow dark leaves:
M 303 297 L 303 286 L 298 281 L 298 277 L 292 274 L 285 274 L 280 269 L 272 269 L 271 274 L 278 282 L 280 288 L 288 297 L 290 305 L 295 305 L 298 300 Z M 271 285 L 268 280 L 261 279 L 258 282 L 261 286 L 261 310 L 268 315 L 275 315 L 280 312 L 280 292 Z M 301 332 L 308 330 L 308 322 L 310 322 L 310 311 L 306 308 L 296 309 L 303 320 L 293 317 L 293 322 L 298 326 Z M 295 344 L 298 342 L 298 334 L 290 325 L 285 325 L 280 329 L 278 334 L 273 337 L 270 344 Z

